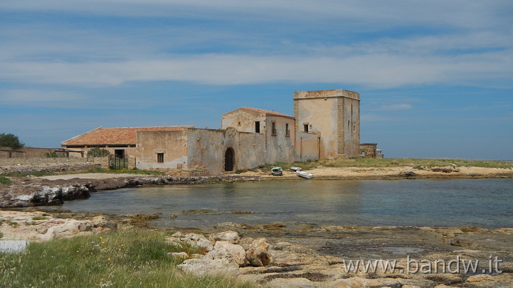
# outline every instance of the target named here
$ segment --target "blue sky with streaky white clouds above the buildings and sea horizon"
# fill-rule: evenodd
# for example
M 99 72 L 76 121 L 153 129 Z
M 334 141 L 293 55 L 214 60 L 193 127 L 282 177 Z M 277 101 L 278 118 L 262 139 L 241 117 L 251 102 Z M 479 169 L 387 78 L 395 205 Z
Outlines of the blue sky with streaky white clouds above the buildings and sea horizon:
M 220 128 L 293 91 L 360 93 L 385 157 L 513 159 L 513 3 L 0 2 L 0 133 Z

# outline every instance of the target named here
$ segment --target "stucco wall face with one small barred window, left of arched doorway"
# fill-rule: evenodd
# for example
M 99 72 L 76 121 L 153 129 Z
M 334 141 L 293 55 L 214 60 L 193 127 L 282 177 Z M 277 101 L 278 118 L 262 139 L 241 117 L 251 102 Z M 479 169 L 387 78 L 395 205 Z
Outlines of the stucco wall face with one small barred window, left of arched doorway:
M 139 131 L 136 138 L 136 167 L 138 169 L 187 167 L 187 130 L 183 131 Z M 162 163 L 157 154 L 164 154 Z

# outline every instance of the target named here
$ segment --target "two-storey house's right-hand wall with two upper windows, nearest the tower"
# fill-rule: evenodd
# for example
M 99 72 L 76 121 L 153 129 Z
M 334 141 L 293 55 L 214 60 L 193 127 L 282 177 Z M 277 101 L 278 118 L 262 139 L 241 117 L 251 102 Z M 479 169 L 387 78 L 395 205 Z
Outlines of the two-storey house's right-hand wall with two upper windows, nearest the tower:
M 294 122 L 292 118 L 267 115 L 266 163 L 291 163 L 294 161 Z

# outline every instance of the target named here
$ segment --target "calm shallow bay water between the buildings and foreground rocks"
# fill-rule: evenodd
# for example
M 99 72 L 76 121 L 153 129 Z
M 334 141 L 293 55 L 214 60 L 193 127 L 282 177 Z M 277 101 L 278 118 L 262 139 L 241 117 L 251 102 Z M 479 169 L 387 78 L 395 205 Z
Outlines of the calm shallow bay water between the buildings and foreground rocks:
M 294 180 L 101 191 L 62 205 L 78 212 L 162 213 L 161 227 L 220 222 L 513 228 L 513 179 Z M 204 210 L 187 214 L 184 211 Z M 251 211 L 233 214 L 232 211 Z M 177 217 L 172 219 L 170 215 Z

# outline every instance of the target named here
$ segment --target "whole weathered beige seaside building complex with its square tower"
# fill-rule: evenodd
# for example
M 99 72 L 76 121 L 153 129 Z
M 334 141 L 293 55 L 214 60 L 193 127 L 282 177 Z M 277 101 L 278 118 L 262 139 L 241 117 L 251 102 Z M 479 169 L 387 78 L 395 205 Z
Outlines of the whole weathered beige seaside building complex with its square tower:
M 223 114 L 221 129 L 97 128 L 62 143 L 66 149 L 108 149 L 135 157 L 139 169 L 193 169 L 208 174 L 265 163 L 336 157 L 376 157 L 360 145 L 360 94 L 347 90 L 296 91 L 294 116 L 242 107 Z M 364 153 L 362 154 L 362 151 Z

